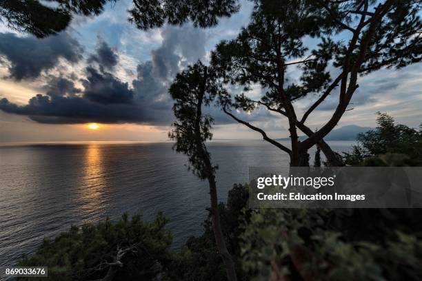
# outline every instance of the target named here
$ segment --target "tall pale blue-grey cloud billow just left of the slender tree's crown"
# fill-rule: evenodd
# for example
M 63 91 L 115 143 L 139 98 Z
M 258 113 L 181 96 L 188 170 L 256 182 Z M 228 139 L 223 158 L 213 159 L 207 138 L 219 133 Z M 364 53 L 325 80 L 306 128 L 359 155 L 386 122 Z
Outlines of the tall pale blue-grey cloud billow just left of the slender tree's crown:
M 163 42 L 151 52 L 151 61 L 137 66 L 137 79 L 132 81 L 134 99 L 142 104 L 145 116 L 153 116 L 154 124 L 170 125 L 174 120 L 173 101 L 168 87 L 186 63 L 205 56 L 205 32 L 185 25 L 168 26 L 161 32 Z

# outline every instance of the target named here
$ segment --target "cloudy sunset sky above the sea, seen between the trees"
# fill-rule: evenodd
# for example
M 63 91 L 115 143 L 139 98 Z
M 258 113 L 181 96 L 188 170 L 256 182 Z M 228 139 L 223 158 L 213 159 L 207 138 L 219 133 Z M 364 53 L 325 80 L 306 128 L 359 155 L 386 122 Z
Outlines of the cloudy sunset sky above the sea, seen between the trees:
M 131 1 L 108 3 L 97 17 L 75 17 L 57 36 L 36 39 L 0 24 L 0 142 L 167 141 L 174 121 L 168 87 L 190 63 L 207 63 L 221 40 L 230 40 L 248 24 L 252 3 L 223 18 L 214 28 L 164 25 L 137 30 L 128 23 Z M 312 45 L 312 40 L 305 43 Z M 422 120 L 422 65 L 379 70 L 359 79 L 353 110 L 338 126 L 374 127 L 375 112 L 418 127 Z M 290 81 L 299 72 L 288 70 Z M 233 89 L 236 90 L 236 89 Z M 252 96 L 261 88 L 254 86 Z M 298 115 L 317 97 L 298 101 Z M 332 113 L 333 94 L 308 118 L 312 129 Z M 261 135 L 211 108 L 214 139 L 260 139 Z M 271 137 L 288 136 L 287 121 L 266 110 L 237 112 Z M 97 129 L 89 129 L 96 123 Z

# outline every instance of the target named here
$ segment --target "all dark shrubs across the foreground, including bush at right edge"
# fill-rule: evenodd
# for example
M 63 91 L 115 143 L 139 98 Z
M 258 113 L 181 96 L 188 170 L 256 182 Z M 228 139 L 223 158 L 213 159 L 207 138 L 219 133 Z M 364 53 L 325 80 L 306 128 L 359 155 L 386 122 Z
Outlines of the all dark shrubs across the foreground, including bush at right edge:
M 343 154 L 346 163 L 422 165 L 422 129 L 395 125 L 386 114 L 378 123 Z M 239 280 L 422 279 L 419 209 L 250 210 L 245 186 L 228 195 L 219 215 Z M 179 252 L 170 249 L 166 222 L 162 214 L 151 222 L 124 214 L 72 227 L 19 265 L 48 266 L 50 280 L 226 280 L 210 216 Z

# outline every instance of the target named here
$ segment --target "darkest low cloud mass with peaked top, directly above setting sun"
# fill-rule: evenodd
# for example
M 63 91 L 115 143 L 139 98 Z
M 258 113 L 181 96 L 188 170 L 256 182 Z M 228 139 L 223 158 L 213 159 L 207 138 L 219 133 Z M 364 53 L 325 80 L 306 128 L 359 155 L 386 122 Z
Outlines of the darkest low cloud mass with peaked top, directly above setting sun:
M 141 123 L 148 122 L 148 116 L 142 114 L 140 105 L 133 105 L 134 92 L 128 83 L 123 83 L 113 74 L 106 72 L 117 64 L 117 59 L 107 58 L 110 50 L 106 43 L 101 43 L 96 53 L 90 56 L 88 63 L 97 64 L 99 70 L 88 64 L 86 78 L 81 81 L 83 90 L 75 87 L 77 76 L 50 76 L 43 89 L 46 94 L 37 94 L 30 98 L 27 105 L 10 103 L 1 99 L 0 109 L 12 114 L 29 116 L 39 123 Z M 92 60 L 95 57 L 95 60 Z M 115 60 L 115 62 L 114 62 Z

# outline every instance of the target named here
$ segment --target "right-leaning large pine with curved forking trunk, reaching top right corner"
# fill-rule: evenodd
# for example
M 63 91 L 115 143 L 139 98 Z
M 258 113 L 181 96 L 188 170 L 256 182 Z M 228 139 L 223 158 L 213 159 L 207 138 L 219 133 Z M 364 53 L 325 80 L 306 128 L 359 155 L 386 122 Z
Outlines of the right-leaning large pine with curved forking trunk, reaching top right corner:
M 359 75 L 381 67 L 405 67 L 422 59 L 420 1 L 317 0 L 316 3 L 332 21 L 328 31 L 349 32 L 351 38 L 346 44 L 336 42 L 333 66 L 338 67 L 340 73 L 321 92 L 319 99 L 303 114 L 299 123 L 303 124 L 339 84 L 336 110 L 321 129 L 301 143 L 301 151 L 309 149 L 334 129 L 359 87 Z

